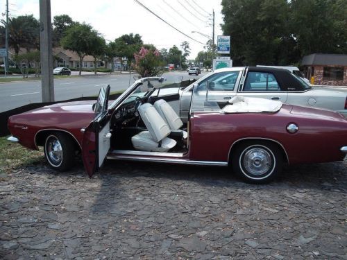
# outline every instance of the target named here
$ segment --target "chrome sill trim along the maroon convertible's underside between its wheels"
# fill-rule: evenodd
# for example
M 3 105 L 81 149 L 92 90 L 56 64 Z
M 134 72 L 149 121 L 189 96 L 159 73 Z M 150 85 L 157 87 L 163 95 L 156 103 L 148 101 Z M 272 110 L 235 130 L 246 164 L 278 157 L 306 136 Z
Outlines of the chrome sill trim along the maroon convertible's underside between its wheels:
M 208 161 L 191 161 L 189 159 L 174 159 L 174 158 L 153 158 L 153 157 L 131 157 L 127 155 L 109 155 L 108 159 L 121 159 L 128 161 L 139 162 L 166 162 L 170 164 L 191 164 L 191 165 L 204 165 L 204 166 L 228 166 L 228 162 L 208 162 Z

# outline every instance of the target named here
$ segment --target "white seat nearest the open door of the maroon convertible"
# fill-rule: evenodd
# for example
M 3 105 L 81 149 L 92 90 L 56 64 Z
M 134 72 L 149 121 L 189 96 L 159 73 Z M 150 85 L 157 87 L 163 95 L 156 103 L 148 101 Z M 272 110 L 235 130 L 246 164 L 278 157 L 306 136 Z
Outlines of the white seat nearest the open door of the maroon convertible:
M 153 105 L 145 103 L 139 106 L 138 111 L 148 131 L 139 132 L 131 137 L 136 150 L 167 152 L 176 146 L 176 141 L 167 137 L 171 132 L 169 126 Z

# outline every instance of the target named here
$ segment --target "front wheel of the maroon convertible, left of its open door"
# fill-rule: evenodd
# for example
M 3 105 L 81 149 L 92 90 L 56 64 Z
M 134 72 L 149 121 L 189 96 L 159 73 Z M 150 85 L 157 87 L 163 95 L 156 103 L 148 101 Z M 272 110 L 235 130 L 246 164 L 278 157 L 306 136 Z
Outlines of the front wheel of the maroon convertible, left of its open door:
M 51 168 L 67 171 L 74 166 L 74 143 L 65 133 L 52 132 L 44 141 L 44 156 Z

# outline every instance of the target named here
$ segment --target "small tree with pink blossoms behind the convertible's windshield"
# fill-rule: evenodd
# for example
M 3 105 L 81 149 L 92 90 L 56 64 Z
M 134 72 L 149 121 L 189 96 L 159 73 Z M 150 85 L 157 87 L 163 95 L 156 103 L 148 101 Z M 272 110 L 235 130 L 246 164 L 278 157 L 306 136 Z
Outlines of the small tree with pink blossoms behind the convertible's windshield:
M 162 75 L 162 61 L 157 49 L 146 49 L 144 46 L 139 53 L 134 53 L 135 71 L 141 78 Z

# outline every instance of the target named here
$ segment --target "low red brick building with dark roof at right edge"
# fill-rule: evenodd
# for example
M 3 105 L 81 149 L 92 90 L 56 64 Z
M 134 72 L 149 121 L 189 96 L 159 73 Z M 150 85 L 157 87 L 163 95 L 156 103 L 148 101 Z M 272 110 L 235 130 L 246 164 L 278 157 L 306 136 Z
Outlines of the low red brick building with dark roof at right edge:
M 303 58 L 305 77 L 314 85 L 347 86 L 347 55 L 313 53 Z

